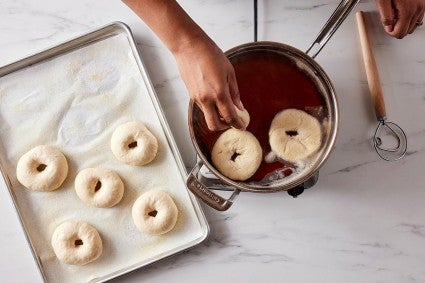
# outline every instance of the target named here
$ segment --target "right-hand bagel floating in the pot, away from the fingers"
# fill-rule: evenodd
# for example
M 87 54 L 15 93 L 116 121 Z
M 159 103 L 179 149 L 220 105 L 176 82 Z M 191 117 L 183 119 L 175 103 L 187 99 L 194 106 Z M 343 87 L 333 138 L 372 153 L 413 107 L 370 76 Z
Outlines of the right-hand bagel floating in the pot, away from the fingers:
M 322 143 L 320 123 L 302 110 L 283 110 L 273 118 L 269 142 L 280 158 L 292 162 L 302 160 L 318 150 Z

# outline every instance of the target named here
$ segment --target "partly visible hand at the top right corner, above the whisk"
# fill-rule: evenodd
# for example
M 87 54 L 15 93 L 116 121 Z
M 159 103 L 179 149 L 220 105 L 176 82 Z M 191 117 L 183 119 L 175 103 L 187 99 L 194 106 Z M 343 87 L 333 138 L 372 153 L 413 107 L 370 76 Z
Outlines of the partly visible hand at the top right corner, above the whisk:
M 403 38 L 423 23 L 425 0 L 376 0 L 385 31 Z

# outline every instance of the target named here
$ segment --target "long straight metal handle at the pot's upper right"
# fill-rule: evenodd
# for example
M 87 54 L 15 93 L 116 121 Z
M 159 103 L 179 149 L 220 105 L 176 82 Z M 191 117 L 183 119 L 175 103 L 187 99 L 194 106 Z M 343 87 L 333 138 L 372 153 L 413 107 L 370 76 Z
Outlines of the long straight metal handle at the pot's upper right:
M 342 22 L 344 22 L 345 18 L 347 18 L 348 14 L 350 14 L 351 10 L 353 10 L 354 6 L 356 6 L 359 1 L 360 0 L 342 0 L 341 3 L 339 3 L 338 7 L 317 35 L 316 39 L 306 51 L 307 55 L 310 55 L 314 59 L 319 54 L 328 40 L 337 31 L 339 26 Z

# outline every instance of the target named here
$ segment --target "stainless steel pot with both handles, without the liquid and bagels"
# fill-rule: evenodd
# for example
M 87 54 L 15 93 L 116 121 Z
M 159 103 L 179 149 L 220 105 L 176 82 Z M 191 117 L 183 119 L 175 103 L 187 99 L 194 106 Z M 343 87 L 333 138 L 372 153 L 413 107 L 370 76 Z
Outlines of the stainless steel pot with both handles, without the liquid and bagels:
M 230 62 L 236 62 L 238 59 L 250 56 L 251 54 L 273 54 L 273 56 L 279 56 L 293 62 L 294 66 L 302 70 L 320 90 L 319 92 L 324 101 L 326 126 L 323 127 L 323 142 L 321 148 L 317 154 L 315 154 L 314 159 L 311 160 L 310 166 L 294 174 L 293 177 L 277 180 L 270 178 L 269 180 L 262 180 L 261 182 L 234 181 L 225 177 L 212 165 L 210 151 L 201 138 L 202 135 L 206 134 L 209 130 L 206 128 L 202 111 L 194 101 L 191 101 L 189 105 L 189 131 L 192 143 L 198 154 L 198 162 L 190 172 L 186 183 L 188 188 L 196 196 L 211 207 L 224 211 L 230 208 L 240 191 L 269 193 L 289 190 L 296 187 L 308 188 L 315 183 L 319 168 L 324 164 L 335 144 L 339 116 L 338 103 L 331 80 L 314 58 L 358 2 L 359 0 L 341 1 L 307 52 L 300 51 L 286 44 L 267 41 L 239 45 L 225 52 Z M 267 103 L 267 100 L 265 103 Z M 219 196 L 212 191 L 211 187 L 202 182 L 199 171 L 203 165 L 218 178 L 218 182 L 221 183 L 222 186 L 233 191 L 230 198 Z

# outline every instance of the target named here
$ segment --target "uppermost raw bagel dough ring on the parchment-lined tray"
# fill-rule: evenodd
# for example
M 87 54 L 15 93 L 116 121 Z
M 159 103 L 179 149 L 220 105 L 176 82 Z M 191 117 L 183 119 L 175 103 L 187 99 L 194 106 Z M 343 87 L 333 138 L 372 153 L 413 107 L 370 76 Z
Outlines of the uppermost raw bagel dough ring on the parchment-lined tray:
M 158 141 L 143 123 L 128 122 L 115 129 L 111 150 L 119 161 L 142 166 L 155 158 Z

